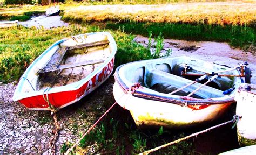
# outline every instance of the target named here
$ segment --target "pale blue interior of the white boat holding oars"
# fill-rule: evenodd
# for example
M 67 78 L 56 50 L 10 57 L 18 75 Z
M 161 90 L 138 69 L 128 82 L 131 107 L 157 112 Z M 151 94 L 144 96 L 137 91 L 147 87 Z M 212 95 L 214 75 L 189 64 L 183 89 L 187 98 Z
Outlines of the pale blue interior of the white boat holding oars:
M 140 83 L 142 86 L 153 91 L 169 94 L 174 90 L 186 86 L 197 78 L 200 78 L 200 76 L 181 75 L 180 68 L 184 63 L 190 67 L 186 71 L 187 74 L 205 74 L 228 69 L 225 66 L 215 65 L 210 62 L 181 57 L 168 59 L 166 61 L 149 61 L 143 64 L 143 66 L 131 65 L 130 68 L 134 68 L 135 71 L 133 69 L 133 72 L 135 73 L 131 75 L 131 72 L 128 71 L 125 76 L 126 79 L 132 83 Z M 229 71 L 222 74 L 235 75 L 238 74 L 238 71 Z M 212 76 L 208 76 L 207 78 L 211 77 Z M 207 81 L 208 79 L 201 80 L 172 95 L 187 96 L 192 91 L 199 88 L 202 83 Z M 223 97 L 223 91 L 235 87 L 235 82 L 237 81 L 238 78 L 234 77 L 218 77 L 206 84 L 206 86 L 200 88 L 191 97 L 201 99 Z M 234 91 L 231 93 L 234 93 Z

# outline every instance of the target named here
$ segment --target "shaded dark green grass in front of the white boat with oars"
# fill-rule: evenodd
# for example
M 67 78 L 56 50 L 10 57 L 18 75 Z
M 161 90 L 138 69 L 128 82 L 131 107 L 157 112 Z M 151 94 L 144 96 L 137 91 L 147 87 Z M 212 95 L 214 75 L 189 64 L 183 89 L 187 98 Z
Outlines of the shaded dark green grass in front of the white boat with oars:
M 109 120 L 109 118 L 105 118 Z M 89 132 L 72 151 L 74 154 L 87 154 L 93 146 L 95 153 L 107 154 L 138 154 L 154 147 L 169 143 L 184 136 L 183 132 L 170 132 L 160 127 L 159 130 L 138 130 L 133 122 L 123 122 L 122 119 L 111 118 L 103 121 L 95 129 Z M 120 122 L 119 122 L 120 121 Z M 130 125 L 129 125 L 130 124 Z M 82 135 L 81 135 L 82 136 Z M 62 145 L 62 153 L 73 144 L 66 142 Z M 194 154 L 194 145 L 190 140 L 171 145 L 158 150 L 158 154 Z M 91 152 L 92 153 L 92 152 Z

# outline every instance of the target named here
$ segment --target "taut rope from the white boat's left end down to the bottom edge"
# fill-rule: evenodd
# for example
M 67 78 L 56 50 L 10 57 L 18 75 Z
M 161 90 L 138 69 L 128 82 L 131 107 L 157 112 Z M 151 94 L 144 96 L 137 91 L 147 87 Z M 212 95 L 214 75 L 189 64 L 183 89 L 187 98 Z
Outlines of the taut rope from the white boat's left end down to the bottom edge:
M 131 94 L 133 94 L 134 91 L 135 91 L 137 88 L 139 88 L 139 87 L 141 87 L 140 84 L 139 84 L 139 83 L 135 83 L 130 89 L 128 89 L 128 90 L 126 90 L 126 91 L 130 91 Z M 120 100 L 124 95 L 125 95 L 125 93 L 124 93 L 122 96 L 120 96 L 120 98 L 119 98 L 118 100 Z M 89 128 L 89 130 L 87 130 L 87 131 L 84 133 L 84 135 L 83 135 L 81 138 L 79 138 L 79 139 L 77 140 L 77 142 L 76 142 L 72 147 L 70 147 L 70 148 L 66 151 L 65 155 L 68 155 L 68 154 L 80 143 L 80 141 L 81 141 L 93 128 L 95 128 L 95 126 L 99 123 L 99 121 L 101 121 L 102 118 L 103 118 L 103 117 L 114 107 L 114 105 L 116 105 L 116 104 L 117 104 L 117 101 L 114 102 L 114 103 L 111 105 L 111 107 L 110 107 L 109 109 L 107 109 L 107 111 L 91 126 L 91 128 Z

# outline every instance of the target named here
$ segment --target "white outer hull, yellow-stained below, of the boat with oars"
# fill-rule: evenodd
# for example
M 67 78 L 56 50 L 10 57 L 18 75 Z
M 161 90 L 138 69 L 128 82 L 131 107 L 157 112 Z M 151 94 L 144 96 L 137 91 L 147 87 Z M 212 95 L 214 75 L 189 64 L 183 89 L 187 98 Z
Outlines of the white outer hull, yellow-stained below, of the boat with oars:
M 218 118 L 231 104 L 215 104 L 201 110 L 193 110 L 177 104 L 145 100 L 125 94 L 117 82 L 114 83 L 113 94 L 121 107 L 130 110 L 138 128 L 147 126 L 185 128 L 198 125 Z

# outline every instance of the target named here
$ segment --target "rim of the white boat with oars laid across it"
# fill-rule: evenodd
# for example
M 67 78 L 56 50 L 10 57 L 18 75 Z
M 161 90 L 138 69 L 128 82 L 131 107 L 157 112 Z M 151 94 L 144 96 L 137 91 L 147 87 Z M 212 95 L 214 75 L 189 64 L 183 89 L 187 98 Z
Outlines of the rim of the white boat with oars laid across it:
M 160 58 L 162 59 L 162 58 Z M 150 61 L 150 60 L 140 60 L 140 61 Z M 136 61 L 136 62 L 140 62 Z M 120 78 L 118 72 L 119 69 L 125 65 L 132 64 L 134 62 L 129 62 L 127 64 L 123 64 L 117 67 L 115 73 L 114 73 L 114 79 L 120 86 L 120 88 L 124 91 L 125 94 L 129 93 L 129 87 L 125 84 L 125 82 Z M 152 93 L 146 93 L 142 89 L 135 89 L 134 93 L 132 94 L 134 97 L 138 98 L 144 98 L 147 100 L 153 100 L 153 101 L 161 101 L 161 102 L 167 102 L 167 103 L 173 103 L 173 104 L 178 104 L 180 106 L 186 106 L 186 105 L 214 105 L 214 104 L 226 104 L 226 103 L 233 103 L 234 101 L 234 96 L 227 97 L 229 95 L 225 95 L 224 97 L 217 97 L 217 98 L 223 98 L 222 100 L 213 100 L 212 98 L 205 98 L 205 99 L 198 99 L 198 98 L 193 98 L 193 97 L 188 97 L 192 98 L 193 100 L 184 100 L 183 98 L 179 97 L 167 97 L 167 96 L 160 96 L 157 94 L 152 94 Z M 183 96 L 181 96 L 183 97 Z M 211 99 L 211 100 L 209 100 Z

